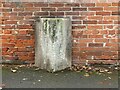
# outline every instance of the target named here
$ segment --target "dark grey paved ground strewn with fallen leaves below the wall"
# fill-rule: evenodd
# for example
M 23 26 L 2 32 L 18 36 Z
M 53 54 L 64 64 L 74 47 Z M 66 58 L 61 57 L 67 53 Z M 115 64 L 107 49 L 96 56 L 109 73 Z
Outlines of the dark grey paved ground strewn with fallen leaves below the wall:
M 3 88 L 118 88 L 118 67 L 82 68 L 48 73 L 30 65 L 2 65 Z

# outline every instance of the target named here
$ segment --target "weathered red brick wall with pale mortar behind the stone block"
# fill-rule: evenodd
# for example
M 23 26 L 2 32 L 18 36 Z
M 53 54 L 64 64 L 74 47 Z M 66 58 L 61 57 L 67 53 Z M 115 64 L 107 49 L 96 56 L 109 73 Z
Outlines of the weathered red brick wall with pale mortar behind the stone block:
M 118 3 L 0 3 L 3 60 L 34 61 L 35 20 L 62 16 L 72 20 L 72 60 L 118 60 Z

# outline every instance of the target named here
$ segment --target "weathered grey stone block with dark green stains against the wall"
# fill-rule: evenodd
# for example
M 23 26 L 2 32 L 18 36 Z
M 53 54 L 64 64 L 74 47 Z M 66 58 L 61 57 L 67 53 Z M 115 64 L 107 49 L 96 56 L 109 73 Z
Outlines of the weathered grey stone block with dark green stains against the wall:
M 40 18 L 36 23 L 35 65 L 55 72 L 71 66 L 69 18 Z

